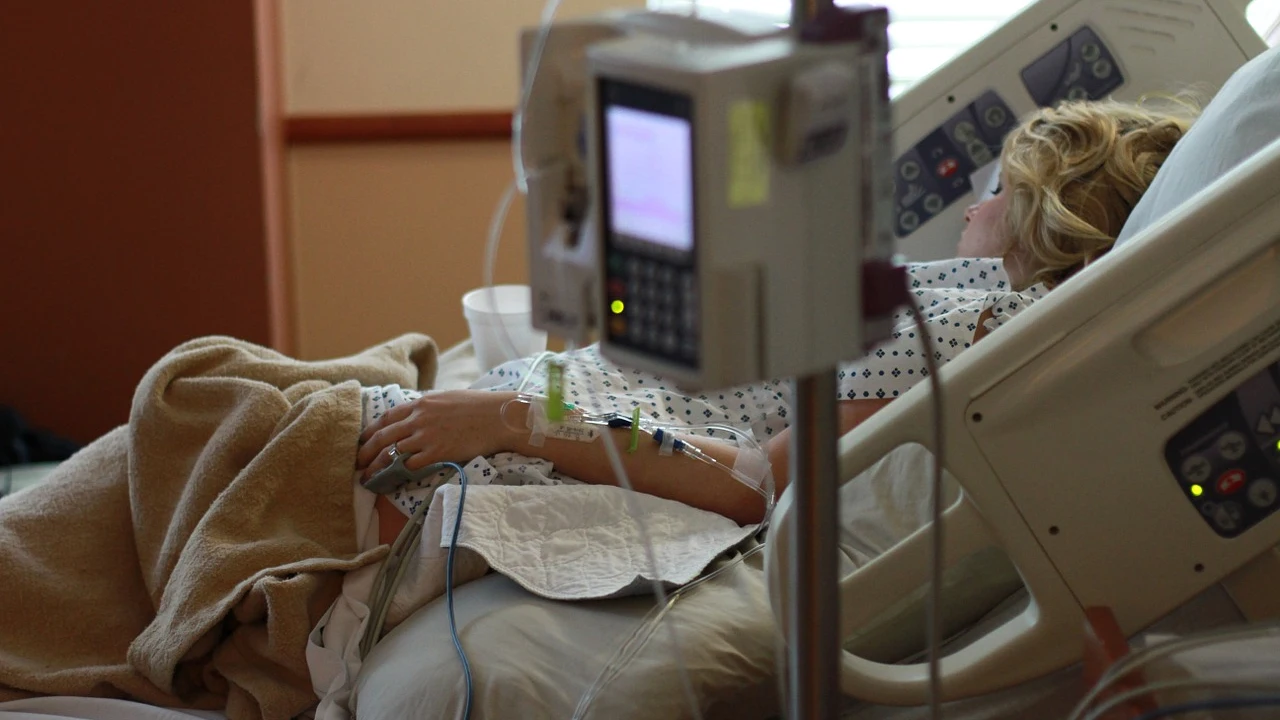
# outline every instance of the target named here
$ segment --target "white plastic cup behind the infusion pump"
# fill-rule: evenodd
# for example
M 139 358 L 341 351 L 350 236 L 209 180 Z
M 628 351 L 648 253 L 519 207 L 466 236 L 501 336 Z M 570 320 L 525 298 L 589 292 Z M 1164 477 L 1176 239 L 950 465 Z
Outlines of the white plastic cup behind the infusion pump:
M 462 296 L 462 314 L 471 328 L 471 343 L 481 373 L 547 350 L 547 333 L 534 329 L 531 291 L 527 284 L 472 290 Z M 502 336 L 504 331 L 511 338 L 509 343 Z M 515 350 L 515 356 L 511 350 Z

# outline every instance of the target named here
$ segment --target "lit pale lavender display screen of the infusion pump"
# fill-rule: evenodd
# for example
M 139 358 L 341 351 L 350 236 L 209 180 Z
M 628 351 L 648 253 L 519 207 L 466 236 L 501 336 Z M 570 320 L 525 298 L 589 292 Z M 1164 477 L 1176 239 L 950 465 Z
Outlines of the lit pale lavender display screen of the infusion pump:
M 689 120 L 611 105 L 604 110 L 604 133 L 609 151 L 609 229 L 675 250 L 692 250 L 694 133 Z

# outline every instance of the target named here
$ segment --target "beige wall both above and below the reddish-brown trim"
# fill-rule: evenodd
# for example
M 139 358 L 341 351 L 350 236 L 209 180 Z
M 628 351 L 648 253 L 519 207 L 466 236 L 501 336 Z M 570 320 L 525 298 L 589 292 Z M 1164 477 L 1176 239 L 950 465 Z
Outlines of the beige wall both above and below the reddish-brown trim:
M 566 14 L 640 0 L 572 0 Z M 515 108 L 521 27 L 541 0 L 283 0 L 291 115 Z M 461 297 L 481 284 L 507 142 L 303 146 L 289 152 L 297 354 L 353 352 L 419 331 L 466 337 Z M 524 205 L 499 282 L 526 282 Z

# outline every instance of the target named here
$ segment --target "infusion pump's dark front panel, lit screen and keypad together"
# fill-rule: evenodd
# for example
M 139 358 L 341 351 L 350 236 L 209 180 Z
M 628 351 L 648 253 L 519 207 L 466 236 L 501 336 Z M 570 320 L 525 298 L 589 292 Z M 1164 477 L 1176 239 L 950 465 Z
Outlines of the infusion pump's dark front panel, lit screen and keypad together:
M 698 368 L 694 100 L 612 78 L 600 78 L 599 100 L 604 340 Z

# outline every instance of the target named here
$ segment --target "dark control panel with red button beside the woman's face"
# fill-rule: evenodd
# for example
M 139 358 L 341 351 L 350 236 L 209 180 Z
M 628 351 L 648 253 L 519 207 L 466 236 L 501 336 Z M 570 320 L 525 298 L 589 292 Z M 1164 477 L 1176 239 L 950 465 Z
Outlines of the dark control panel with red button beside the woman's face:
M 1001 142 L 1016 124 L 1009 105 L 986 92 L 904 152 L 893 165 L 897 237 L 969 195 L 969 176 L 1000 156 Z

